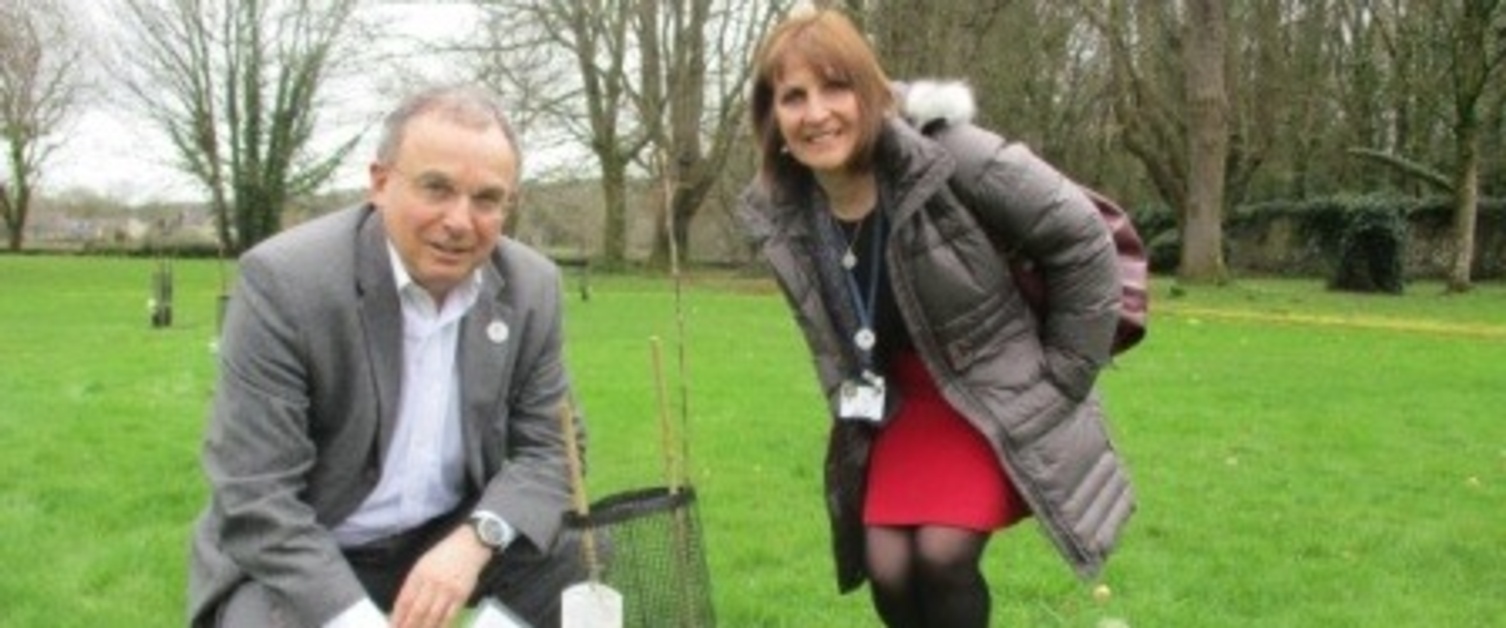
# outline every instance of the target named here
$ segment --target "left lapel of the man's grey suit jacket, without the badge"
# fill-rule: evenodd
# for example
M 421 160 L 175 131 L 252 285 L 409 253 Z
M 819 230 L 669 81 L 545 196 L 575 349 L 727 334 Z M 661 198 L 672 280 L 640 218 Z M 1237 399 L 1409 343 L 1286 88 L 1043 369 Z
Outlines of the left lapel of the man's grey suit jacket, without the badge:
M 392 276 L 392 255 L 381 215 L 372 209 L 361 223 L 357 238 L 357 294 L 361 327 L 366 331 L 366 352 L 370 360 L 372 384 L 376 389 L 378 425 L 376 459 L 383 462 L 398 425 L 398 401 L 402 389 L 402 304 Z

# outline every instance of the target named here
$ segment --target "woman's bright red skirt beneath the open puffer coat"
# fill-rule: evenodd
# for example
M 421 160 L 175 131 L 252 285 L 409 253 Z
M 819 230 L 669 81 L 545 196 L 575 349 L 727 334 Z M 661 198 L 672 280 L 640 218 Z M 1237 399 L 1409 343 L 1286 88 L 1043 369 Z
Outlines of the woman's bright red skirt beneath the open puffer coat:
M 901 407 L 873 441 L 866 526 L 955 526 L 992 532 L 1029 508 L 992 447 L 941 398 L 914 351 L 895 355 Z

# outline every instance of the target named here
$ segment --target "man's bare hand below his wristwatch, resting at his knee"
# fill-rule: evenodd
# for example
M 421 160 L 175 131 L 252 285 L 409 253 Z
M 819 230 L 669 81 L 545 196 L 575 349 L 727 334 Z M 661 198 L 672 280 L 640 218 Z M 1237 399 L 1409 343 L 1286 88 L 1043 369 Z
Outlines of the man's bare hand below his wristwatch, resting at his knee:
M 492 559 L 470 526 L 455 529 L 408 572 L 392 608 L 393 628 L 443 628 L 465 608 L 476 578 Z

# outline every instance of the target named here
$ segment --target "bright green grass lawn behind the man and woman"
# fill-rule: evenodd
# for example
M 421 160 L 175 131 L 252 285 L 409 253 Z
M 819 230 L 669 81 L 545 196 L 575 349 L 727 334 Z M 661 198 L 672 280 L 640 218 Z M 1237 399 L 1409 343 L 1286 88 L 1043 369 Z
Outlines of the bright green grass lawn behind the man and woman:
M 220 279 L 179 262 L 175 325 L 152 330 L 151 268 L 0 256 L 0 626 L 182 623 Z M 989 547 L 995 625 L 1501 625 L 1506 286 L 1172 292 L 1154 286 L 1149 340 L 1101 380 L 1140 497 L 1113 595 L 1026 524 Z M 682 325 L 667 279 L 569 298 L 592 497 L 664 482 L 658 336 L 720 623 L 876 625 L 866 592 L 834 590 L 825 419 L 771 285 L 688 274 Z

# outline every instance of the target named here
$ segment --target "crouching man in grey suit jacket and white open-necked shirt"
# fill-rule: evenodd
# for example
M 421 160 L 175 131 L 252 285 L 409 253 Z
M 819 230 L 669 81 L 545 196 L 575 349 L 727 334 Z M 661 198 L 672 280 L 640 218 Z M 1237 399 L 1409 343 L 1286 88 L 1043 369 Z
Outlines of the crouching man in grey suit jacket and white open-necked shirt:
M 586 577 L 557 535 L 571 392 L 559 270 L 501 236 L 520 170 L 489 93 L 428 90 L 387 117 L 369 203 L 241 258 L 193 625 L 443 626 L 483 596 L 559 625 Z

